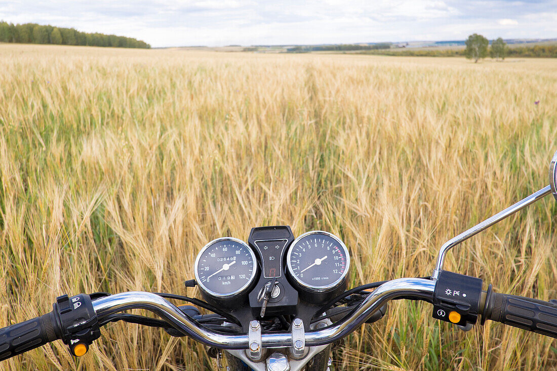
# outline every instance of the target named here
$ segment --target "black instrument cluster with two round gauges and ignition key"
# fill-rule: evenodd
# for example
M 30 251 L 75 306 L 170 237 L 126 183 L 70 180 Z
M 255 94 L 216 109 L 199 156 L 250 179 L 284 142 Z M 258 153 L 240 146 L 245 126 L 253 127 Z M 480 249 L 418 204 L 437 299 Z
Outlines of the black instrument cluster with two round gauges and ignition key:
M 247 243 L 232 237 L 207 243 L 194 270 L 205 300 L 230 310 L 249 306 L 252 318 L 263 318 L 314 313 L 344 292 L 349 267 L 348 248 L 332 233 L 294 238 L 289 226 L 272 226 L 252 228 Z

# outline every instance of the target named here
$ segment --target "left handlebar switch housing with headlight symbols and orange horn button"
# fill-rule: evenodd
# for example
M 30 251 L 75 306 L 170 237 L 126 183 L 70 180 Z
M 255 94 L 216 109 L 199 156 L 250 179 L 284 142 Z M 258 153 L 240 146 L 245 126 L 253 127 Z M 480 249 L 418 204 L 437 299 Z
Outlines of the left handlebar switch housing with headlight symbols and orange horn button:
M 101 335 L 91 297 L 87 294 L 58 296 L 53 312 L 61 339 L 70 347 L 70 353 L 75 357 L 87 353 L 89 345 Z

